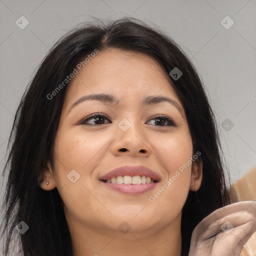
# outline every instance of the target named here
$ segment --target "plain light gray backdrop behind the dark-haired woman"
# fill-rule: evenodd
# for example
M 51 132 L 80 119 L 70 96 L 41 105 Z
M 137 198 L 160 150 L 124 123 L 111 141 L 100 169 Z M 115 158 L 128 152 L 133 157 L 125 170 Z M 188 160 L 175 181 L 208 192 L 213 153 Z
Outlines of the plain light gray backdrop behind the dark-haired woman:
M 231 178 L 239 179 L 256 166 L 255 10 L 255 0 L 0 0 L 1 170 L 15 110 L 48 48 L 79 22 L 131 16 L 161 28 L 193 61 L 215 111 Z M 24 29 L 15 23 L 22 15 L 29 21 Z M 229 29 L 221 24 L 226 15 L 234 21 Z

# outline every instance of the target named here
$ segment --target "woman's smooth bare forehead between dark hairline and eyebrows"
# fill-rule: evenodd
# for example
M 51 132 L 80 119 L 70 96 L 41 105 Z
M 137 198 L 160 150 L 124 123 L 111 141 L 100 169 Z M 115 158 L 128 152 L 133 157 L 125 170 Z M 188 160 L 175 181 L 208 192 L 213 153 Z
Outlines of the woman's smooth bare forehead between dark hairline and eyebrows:
M 168 74 L 155 59 L 115 48 L 98 52 L 78 71 L 69 82 L 65 101 L 93 93 L 114 94 L 132 103 L 141 96 L 156 94 L 169 95 L 178 101 Z

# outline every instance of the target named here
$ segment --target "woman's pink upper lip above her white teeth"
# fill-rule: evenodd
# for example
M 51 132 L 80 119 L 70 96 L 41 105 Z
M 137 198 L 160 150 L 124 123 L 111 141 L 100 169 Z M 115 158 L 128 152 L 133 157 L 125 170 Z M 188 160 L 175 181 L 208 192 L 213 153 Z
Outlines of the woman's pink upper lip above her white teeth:
M 142 166 L 142 165 L 136 165 L 136 166 L 124 165 L 124 166 L 120 166 L 118 168 L 115 168 L 115 169 L 107 172 L 106 174 L 101 176 L 99 179 L 100 180 L 106 180 L 108 178 L 117 177 L 117 176 L 124 176 L 124 175 L 146 176 L 146 177 L 152 178 L 155 181 L 160 181 L 160 177 L 159 177 L 158 174 L 156 174 L 151 169 L 149 169 L 145 166 Z

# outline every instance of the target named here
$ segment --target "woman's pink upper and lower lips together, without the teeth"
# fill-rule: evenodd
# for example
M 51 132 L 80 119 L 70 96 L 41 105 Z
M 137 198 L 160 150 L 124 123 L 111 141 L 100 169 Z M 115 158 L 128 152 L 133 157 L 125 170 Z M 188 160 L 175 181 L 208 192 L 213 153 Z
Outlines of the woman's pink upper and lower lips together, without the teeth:
M 124 176 L 124 175 L 130 175 L 130 176 L 146 176 L 150 177 L 151 179 L 155 180 L 156 182 L 154 183 L 149 183 L 149 184 L 139 184 L 139 185 L 133 185 L 133 184 L 117 184 L 117 183 L 107 183 L 104 180 L 112 177 L 117 177 L 117 176 Z M 124 193 L 124 194 L 141 194 L 144 193 L 148 190 L 153 189 L 157 183 L 160 181 L 160 177 L 157 173 L 152 171 L 151 169 L 138 165 L 138 166 L 131 166 L 131 165 L 125 165 L 121 166 L 118 168 L 115 168 L 108 173 L 104 174 L 101 176 L 100 181 L 106 185 L 107 187 Z

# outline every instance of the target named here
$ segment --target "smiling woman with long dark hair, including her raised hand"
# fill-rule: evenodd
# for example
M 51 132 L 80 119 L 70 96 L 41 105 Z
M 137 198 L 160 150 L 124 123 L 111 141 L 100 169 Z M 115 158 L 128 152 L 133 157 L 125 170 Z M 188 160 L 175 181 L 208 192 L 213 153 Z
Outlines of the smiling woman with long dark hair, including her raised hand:
M 4 255 L 12 233 L 22 255 L 230 255 L 256 229 L 255 202 L 228 205 L 193 65 L 135 19 L 62 37 L 24 93 L 9 143 Z M 225 216 L 241 210 L 224 236 Z

